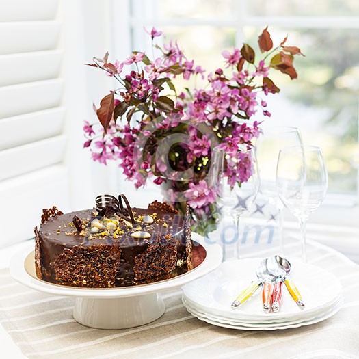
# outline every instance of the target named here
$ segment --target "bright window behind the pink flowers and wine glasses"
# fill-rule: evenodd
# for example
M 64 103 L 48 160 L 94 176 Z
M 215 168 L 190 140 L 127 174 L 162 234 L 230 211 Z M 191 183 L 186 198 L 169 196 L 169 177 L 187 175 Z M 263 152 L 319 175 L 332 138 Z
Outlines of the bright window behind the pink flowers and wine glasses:
M 118 1 L 115 1 L 115 3 Z M 178 40 L 187 57 L 209 71 L 221 52 L 256 43 L 267 25 L 278 43 L 301 47 L 295 81 L 279 77 L 279 95 L 269 98 L 266 126 L 297 126 L 304 143 L 323 148 L 330 185 L 316 222 L 356 226 L 358 176 L 359 4 L 357 1 L 135 0 L 129 2 L 133 50 L 146 50 L 143 27 L 155 26 Z M 263 120 L 263 116 L 258 116 Z M 338 210 L 338 208 L 340 210 Z

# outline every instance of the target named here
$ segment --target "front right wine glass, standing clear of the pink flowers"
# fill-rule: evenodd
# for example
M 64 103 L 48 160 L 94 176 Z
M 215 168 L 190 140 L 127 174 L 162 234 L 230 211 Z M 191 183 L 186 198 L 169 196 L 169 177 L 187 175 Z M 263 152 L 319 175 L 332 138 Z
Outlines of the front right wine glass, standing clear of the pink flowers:
M 285 207 L 300 222 L 302 261 L 306 262 L 306 222 L 323 202 L 328 189 L 328 173 L 321 148 L 289 146 L 280 149 L 276 187 Z

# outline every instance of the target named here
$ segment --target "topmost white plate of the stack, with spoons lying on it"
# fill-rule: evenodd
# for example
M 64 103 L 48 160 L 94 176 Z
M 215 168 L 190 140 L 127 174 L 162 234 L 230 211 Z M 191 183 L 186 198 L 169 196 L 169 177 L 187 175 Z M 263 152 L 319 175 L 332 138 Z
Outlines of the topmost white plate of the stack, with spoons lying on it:
M 245 319 L 257 323 L 273 320 L 308 319 L 329 309 L 341 296 L 338 279 L 314 265 L 292 263 L 291 278 L 300 289 L 306 308 L 297 307 L 287 289 L 283 287 L 282 307 L 279 313 L 263 313 L 261 295 L 254 295 L 237 310 L 230 304 L 237 295 L 254 280 L 256 266 L 261 258 L 247 258 L 222 263 L 215 271 L 183 287 L 185 299 L 192 307 L 228 319 Z

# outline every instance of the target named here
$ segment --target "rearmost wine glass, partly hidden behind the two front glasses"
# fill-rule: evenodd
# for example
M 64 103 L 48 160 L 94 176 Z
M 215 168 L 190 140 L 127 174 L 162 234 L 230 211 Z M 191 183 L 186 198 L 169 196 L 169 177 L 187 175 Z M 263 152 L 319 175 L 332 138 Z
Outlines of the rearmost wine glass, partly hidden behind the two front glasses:
M 290 126 L 274 126 L 263 129 L 263 135 L 258 138 L 256 153 L 258 168 L 261 174 L 260 193 L 276 211 L 273 218 L 278 224 L 280 252 L 283 254 L 282 211 L 284 205 L 279 199 L 276 189 L 276 169 L 280 148 L 287 146 L 302 146 L 300 129 Z

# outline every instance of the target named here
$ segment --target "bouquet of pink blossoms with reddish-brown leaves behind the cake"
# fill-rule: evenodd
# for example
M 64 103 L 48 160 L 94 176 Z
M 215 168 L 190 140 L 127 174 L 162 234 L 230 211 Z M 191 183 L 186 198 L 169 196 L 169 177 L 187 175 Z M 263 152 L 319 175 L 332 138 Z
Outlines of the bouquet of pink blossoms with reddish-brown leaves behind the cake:
M 261 58 L 243 44 L 224 51 L 224 68 L 205 75 L 185 56 L 177 42 L 164 42 L 161 31 L 149 31 L 153 56 L 133 51 L 123 62 L 94 57 L 89 64 L 105 71 L 118 83 L 96 111 L 99 123 L 83 127 L 92 159 L 103 164 L 117 161 L 124 176 L 136 188 L 153 181 L 162 185 L 167 202 L 181 212 L 189 204 L 195 230 L 205 233 L 216 220 L 215 189 L 209 186 L 211 149 L 249 149 L 261 133 L 251 120 L 256 111 L 271 116 L 265 96 L 280 89 L 269 78 L 271 70 L 297 77 L 295 46 L 287 37 L 274 47 L 267 28 L 258 38 Z M 203 88 L 178 88 L 178 78 L 201 77 Z M 248 163 L 239 161 L 228 183 L 241 184 L 248 176 Z

